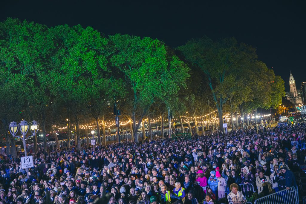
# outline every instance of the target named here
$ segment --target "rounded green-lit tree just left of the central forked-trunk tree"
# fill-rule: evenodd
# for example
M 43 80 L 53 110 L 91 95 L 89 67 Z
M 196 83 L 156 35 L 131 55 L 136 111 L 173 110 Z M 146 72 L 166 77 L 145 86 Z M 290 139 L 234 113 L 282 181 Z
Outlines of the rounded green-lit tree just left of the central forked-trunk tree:
M 57 26 L 52 32 L 57 43 L 53 58 L 55 68 L 50 73 L 52 94 L 59 95 L 68 107 L 73 107 L 77 149 L 80 150 L 79 115 L 88 106 L 91 92 L 99 92 L 95 86 L 103 80 L 99 74 L 106 70 L 103 51 L 107 40 L 93 28 L 84 29 L 80 25 Z

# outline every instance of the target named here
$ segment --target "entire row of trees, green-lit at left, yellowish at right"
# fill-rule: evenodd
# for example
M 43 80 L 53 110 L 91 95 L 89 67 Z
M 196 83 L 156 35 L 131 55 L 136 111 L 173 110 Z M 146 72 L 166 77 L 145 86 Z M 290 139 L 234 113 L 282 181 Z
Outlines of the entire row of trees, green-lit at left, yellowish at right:
M 150 118 L 161 116 L 163 128 L 168 108 L 177 116 L 189 112 L 197 130 L 196 116 L 203 115 L 203 128 L 211 118 L 204 115 L 216 107 L 222 129 L 224 107 L 231 113 L 275 108 L 282 96 L 284 81 L 257 59 L 252 46 L 234 38 L 191 39 L 174 50 L 159 39 L 104 36 L 80 25 L 0 22 L 0 128 L 8 146 L 14 146 L 9 122 L 24 118 L 40 122 L 45 151 L 47 131 L 66 118 L 69 128 L 70 121 L 75 124 L 79 150 L 80 123 L 87 121 L 95 121 L 99 144 L 106 145 L 105 124 L 114 120 L 114 98 L 122 117 L 132 119 L 138 142 L 144 117 L 151 128 Z

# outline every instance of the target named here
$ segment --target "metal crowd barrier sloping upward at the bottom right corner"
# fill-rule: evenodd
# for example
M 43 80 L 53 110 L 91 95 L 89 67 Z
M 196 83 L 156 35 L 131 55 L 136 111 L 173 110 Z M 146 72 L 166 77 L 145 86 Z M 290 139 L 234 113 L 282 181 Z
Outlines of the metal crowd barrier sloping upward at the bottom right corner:
M 270 195 L 258 198 L 255 200 L 254 204 L 298 204 L 299 203 L 299 194 L 297 188 L 291 187 L 289 190 L 285 189 L 272 193 Z

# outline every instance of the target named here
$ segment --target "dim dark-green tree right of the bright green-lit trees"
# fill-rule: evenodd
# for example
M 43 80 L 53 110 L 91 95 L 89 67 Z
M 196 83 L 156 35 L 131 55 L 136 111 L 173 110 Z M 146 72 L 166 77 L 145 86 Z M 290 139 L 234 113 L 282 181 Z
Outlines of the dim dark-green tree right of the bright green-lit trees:
M 220 129 L 223 131 L 223 106 L 231 95 L 239 91 L 244 74 L 243 61 L 256 59 L 255 49 L 244 44 L 237 45 L 234 38 L 221 39 L 216 42 L 208 37 L 192 39 L 178 50 L 194 66 L 199 67 L 206 77 L 218 110 Z

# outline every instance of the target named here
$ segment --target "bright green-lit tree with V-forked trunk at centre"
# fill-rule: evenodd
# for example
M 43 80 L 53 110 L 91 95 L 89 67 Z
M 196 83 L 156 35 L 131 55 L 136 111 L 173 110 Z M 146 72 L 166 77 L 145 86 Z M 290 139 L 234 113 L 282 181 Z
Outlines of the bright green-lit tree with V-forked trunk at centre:
M 169 96 L 185 86 L 189 69 L 157 39 L 116 34 L 110 36 L 110 41 L 114 48 L 110 61 L 126 80 L 125 88 L 132 95 L 131 117 L 138 142 L 137 130 L 147 110 L 156 99 L 170 101 Z M 136 115 L 137 109 L 141 111 Z

